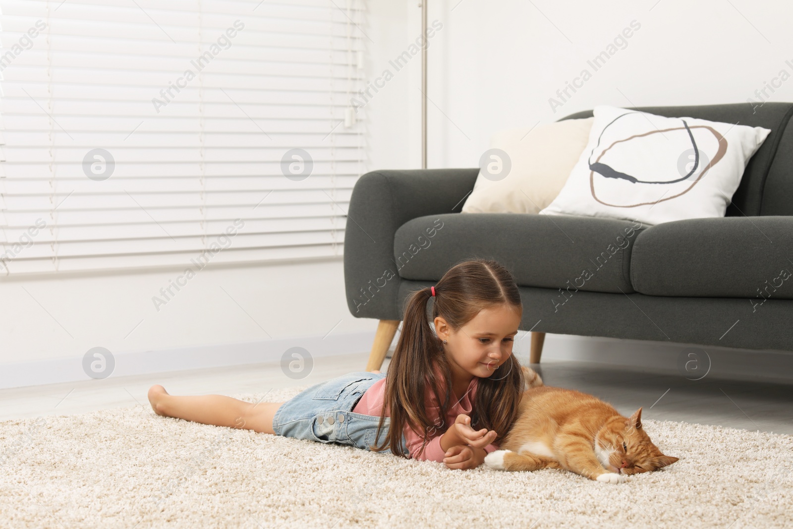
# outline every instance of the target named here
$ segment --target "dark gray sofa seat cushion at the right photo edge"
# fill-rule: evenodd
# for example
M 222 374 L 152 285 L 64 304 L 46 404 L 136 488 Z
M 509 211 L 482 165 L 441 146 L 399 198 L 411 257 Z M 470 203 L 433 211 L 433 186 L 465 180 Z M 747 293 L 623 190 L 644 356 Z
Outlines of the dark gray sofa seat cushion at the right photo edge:
M 642 230 L 630 281 L 650 296 L 793 299 L 793 217 L 676 220 Z

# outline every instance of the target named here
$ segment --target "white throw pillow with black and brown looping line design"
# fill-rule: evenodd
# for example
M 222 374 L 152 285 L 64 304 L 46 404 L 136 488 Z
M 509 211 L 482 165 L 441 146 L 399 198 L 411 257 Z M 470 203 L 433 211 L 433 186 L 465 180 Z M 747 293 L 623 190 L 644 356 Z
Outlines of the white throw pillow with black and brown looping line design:
M 661 224 L 724 217 L 746 164 L 771 132 L 599 105 L 587 147 L 543 215 Z

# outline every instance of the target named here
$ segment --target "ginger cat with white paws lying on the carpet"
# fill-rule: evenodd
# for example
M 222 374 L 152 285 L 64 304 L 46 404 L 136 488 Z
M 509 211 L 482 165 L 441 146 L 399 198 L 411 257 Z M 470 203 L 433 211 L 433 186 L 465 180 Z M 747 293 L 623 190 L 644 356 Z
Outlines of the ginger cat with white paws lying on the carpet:
M 678 458 L 661 454 L 642 428 L 642 408 L 630 418 L 592 395 L 542 385 L 523 367 L 527 385 L 503 450 L 485 457 L 498 470 L 564 469 L 603 483 L 658 470 Z

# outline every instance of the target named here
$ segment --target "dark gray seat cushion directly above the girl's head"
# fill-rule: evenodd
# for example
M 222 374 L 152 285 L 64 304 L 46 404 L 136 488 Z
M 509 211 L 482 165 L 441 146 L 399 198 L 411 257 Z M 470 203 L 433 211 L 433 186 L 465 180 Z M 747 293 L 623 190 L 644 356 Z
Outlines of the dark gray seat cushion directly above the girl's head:
M 519 286 L 632 293 L 630 251 L 638 221 L 575 215 L 445 213 L 417 217 L 394 236 L 401 278 L 438 281 L 456 263 L 496 259 Z

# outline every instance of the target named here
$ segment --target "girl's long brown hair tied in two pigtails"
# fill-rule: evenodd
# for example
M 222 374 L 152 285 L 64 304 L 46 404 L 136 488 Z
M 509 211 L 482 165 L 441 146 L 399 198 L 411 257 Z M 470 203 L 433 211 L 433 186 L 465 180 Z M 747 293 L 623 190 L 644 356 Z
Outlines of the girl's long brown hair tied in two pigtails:
M 504 266 L 488 259 L 466 260 L 443 274 L 435 284 L 432 316 L 427 319 L 427 301 L 431 297 L 431 289 L 425 288 L 411 293 L 406 302 L 402 333 L 386 375 L 385 397 L 375 439 L 380 438 L 386 409 L 391 418 L 389 435 L 381 446 L 370 447 L 370 450 L 379 452 L 390 447 L 393 454 L 409 458 L 402 452 L 401 443 L 406 424 L 424 437 L 419 451 L 424 450 L 435 431 L 441 428 L 446 431 L 450 426 L 433 424 L 424 409 L 427 385 L 439 402 L 439 420 L 444 420 L 450 408 L 451 368 L 441 340 L 435 335 L 436 316 L 441 316 L 450 328 L 458 331 L 481 309 L 507 305 L 519 313 L 523 312 L 512 274 Z M 437 377 L 433 366 L 439 367 L 442 380 Z M 517 418 L 521 392 L 523 370 L 513 351 L 494 374 L 477 381 L 471 427 L 474 430 L 495 430 L 496 442 L 504 439 Z

